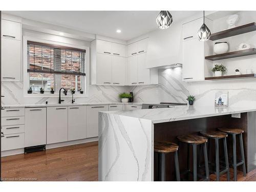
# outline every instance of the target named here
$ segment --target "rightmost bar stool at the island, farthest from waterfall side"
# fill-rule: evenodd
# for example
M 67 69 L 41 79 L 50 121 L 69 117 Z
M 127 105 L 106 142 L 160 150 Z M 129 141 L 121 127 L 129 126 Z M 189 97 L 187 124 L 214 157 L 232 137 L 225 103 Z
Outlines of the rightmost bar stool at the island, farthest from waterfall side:
M 229 128 L 219 128 L 221 132 L 225 132 L 229 135 L 232 135 L 233 140 L 233 169 L 234 169 L 234 181 L 237 181 L 237 167 L 243 165 L 243 175 L 246 176 L 246 169 L 245 169 L 245 159 L 244 159 L 244 145 L 243 145 L 243 136 L 244 130 L 242 129 L 229 129 Z M 240 151 L 242 160 L 237 162 L 237 141 L 236 135 L 239 135 L 240 141 Z

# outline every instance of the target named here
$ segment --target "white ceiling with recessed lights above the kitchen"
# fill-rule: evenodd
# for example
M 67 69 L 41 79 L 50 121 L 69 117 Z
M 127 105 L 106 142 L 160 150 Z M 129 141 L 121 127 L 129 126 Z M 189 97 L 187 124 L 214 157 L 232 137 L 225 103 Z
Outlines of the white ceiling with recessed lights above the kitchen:
M 159 11 L 3 11 L 39 22 L 83 32 L 130 40 L 157 29 Z M 170 11 L 174 22 L 198 11 Z M 120 29 L 122 32 L 117 33 Z

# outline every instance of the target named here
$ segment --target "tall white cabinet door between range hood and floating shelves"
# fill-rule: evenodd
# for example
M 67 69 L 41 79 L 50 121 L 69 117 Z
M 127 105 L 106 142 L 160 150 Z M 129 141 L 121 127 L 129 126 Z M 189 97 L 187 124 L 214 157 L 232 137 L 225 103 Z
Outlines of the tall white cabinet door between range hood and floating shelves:
M 183 41 L 182 79 L 204 79 L 204 42 L 197 38 Z

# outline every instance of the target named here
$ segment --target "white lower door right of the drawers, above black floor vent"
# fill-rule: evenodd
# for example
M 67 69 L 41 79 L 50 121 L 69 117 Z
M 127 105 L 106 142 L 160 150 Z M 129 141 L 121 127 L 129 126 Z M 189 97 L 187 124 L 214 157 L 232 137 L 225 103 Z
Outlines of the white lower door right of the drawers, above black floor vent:
M 25 109 L 25 147 L 46 144 L 46 108 Z

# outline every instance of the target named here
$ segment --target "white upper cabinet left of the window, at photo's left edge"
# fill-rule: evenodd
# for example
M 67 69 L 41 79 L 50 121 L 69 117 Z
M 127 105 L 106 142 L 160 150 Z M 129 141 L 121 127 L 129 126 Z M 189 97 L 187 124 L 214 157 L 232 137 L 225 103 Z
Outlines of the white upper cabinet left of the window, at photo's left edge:
M 21 80 L 21 30 L 22 24 L 10 20 L 1 19 L 2 36 L 2 80 L 20 81 Z

